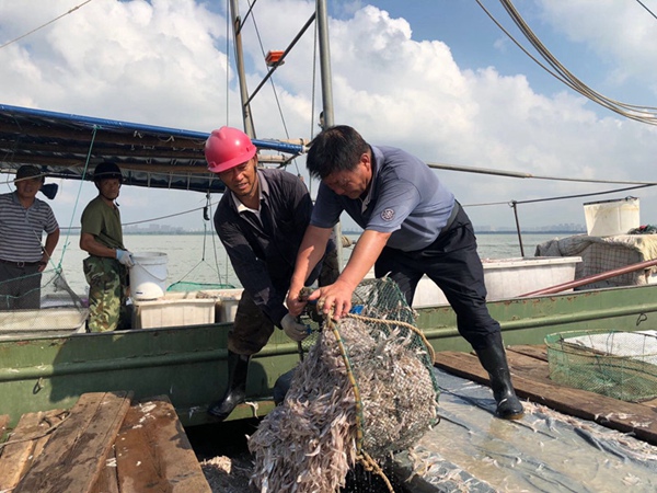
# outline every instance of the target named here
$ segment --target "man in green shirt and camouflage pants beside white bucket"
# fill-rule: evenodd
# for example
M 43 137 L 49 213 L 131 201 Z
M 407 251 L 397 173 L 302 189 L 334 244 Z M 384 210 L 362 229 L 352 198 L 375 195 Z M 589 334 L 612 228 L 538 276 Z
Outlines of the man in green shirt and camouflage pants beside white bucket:
M 120 215 L 115 199 L 123 176 L 112 162 L 100 163 L 93 173 L 99 196 L 82 213 L 80 248 L 89 252 L 83 261 L 89 283 L 89 332 L 114 331 L 129 326 L 126 308 L 128 267 L 132 254 L 123 244 Z

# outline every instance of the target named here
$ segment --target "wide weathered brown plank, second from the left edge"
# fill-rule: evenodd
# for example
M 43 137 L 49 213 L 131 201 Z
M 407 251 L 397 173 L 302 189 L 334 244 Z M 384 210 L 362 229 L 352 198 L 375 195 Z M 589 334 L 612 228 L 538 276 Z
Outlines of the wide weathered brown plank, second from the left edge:
M 14 493 L 88 492 L 101 474 L 131 397 L 125 391 L 82 394 Z

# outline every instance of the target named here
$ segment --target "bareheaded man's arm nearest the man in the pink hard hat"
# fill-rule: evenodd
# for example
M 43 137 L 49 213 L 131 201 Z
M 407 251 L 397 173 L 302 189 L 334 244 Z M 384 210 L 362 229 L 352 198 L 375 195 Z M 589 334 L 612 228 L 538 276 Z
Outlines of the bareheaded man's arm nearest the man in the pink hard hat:
M 332 231 L 331 228 L 318 228 L 316 226 L 308 226 L 306 229 L 287 297 L 288 310 L 295 317 L 301 314 L 306 306 L 306 301 L 299 300 L 299 294 L 314 266 L 322 260 Z

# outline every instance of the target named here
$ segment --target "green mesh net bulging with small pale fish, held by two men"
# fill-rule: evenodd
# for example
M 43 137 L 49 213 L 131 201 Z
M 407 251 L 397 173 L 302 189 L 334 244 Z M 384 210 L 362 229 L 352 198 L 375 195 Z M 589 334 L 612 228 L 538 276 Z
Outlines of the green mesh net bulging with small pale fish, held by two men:
M 336 492 L 356 462 L 414 445 L 436 423 L 434 354 L 391 279 L 368 279 L 327 320 L 285 401 L 249 440 L 261 492 Z M 392 491 L 392 486 L 389 489 Z

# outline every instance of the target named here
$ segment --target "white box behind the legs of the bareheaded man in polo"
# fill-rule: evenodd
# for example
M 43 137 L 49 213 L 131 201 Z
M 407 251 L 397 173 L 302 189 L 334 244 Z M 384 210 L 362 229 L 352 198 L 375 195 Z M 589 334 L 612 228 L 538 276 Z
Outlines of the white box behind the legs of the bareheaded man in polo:
M 488 291 L 486 300 L 514 298 L 574 280 L 575 266 L 579 262 L 580 256 L 482 260 L 484 283 Z M 431 279 L 427 276 L 419 279 L 413 299 L 414 307 L 447 303 L 445 294 Z

